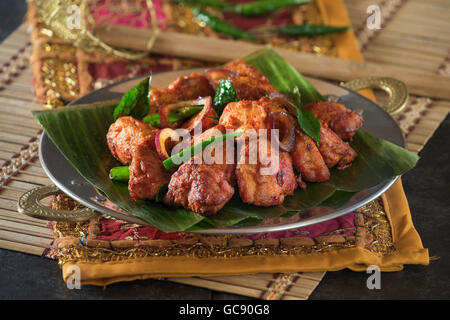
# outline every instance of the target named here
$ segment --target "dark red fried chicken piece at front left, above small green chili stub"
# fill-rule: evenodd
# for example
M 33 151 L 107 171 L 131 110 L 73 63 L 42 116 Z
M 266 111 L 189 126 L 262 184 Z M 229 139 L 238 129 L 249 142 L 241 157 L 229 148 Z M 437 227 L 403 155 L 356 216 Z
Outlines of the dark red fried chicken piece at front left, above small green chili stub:
M 128 191 L 134 200 L 154 200 L 161 186 L 170 180 L 154 147 L 145 142 L 134 148 L 129 172 Z

